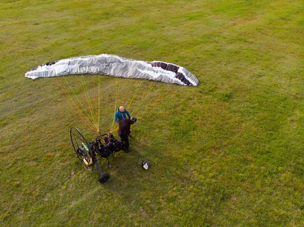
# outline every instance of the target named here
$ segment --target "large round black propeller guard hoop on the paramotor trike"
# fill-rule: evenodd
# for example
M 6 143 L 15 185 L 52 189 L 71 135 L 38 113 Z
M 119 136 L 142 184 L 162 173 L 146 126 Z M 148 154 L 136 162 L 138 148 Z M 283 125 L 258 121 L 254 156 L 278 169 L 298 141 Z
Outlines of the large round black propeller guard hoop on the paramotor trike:
M 71 127 L 70 136 L 74 151 L 81 164 L 89 171 L 93 170 L 94 159 L 92 147 L 85 139 L 83 134 L 75 127 Z

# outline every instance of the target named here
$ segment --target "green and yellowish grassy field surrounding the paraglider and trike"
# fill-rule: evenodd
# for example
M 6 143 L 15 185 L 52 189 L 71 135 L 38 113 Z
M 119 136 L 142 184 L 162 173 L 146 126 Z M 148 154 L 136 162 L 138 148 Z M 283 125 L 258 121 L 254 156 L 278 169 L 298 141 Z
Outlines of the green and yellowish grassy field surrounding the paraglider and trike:
M 2 0 L 0 12 L 1 226 L 304 226 L 303 1 Z M 155 82 L 141 82 L 132 152 L 101 185 L 69 138 L 94 132 L 54 78 L 24 74 L 103 53 L 200 83 L 158 82 L 142 102 Z M 120 81 L 129 104 L 138 80 Z M 107 132 L 118 79 L 101 84 Z

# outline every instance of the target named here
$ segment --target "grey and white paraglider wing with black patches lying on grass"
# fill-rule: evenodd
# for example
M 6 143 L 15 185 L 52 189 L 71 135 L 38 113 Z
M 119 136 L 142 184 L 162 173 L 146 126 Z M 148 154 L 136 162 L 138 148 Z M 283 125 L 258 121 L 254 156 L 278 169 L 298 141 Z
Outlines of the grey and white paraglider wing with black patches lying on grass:
M 90 55 L 68 58 L 37 66 L 25 76 L 31 79 L 73 74 L 101 74 L 124 78 L 152 79 L 166 83 L 196 86 L 199 80 L 187 69 L 166 62 L 145 62 L 116 55 Z

